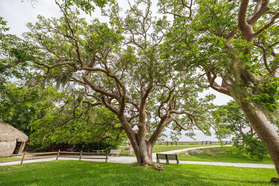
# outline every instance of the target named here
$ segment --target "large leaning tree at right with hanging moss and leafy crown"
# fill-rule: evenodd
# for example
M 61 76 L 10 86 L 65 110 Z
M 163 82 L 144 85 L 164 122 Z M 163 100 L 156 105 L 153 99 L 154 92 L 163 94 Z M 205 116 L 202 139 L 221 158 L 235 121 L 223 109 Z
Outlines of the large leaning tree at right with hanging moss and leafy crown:
M 201 67 L 209 87 L 234 98 L 279 174 L 279 136 L 273 127 L 279 99 L 279 2 L 160 0 L 159 6 L 175 18 L 166 51 Z

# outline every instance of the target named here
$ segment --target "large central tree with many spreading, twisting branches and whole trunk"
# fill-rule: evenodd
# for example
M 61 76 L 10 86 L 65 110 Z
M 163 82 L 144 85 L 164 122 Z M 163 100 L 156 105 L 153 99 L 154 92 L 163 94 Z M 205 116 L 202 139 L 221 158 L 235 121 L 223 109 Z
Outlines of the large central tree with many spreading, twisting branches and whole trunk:
M 142 5 L 146 11 L 138 9 Z M 38 16 L 36 24 L 28 24 L 31 32 L 24 34 L 40 50 L 32 60 L 35 68 L 44 66 L 38 77 L 45 82 L 55 80 L 61 87 L 65 83 L 83 86 L 76 95 L 80 106 L 89 111 L 104 105 L 113 112 L 141 165 L 155 164 L 152 148 L 166 126 L 178 133 L 188 130 L 191 137 L 195 129 L 210 135 L 206 120 L 213 108 L 208 102 L 214 98 L 198 99 L 205 79 L 194 65 L 178 72 L 178 66 L 162 60 L 158 46 L 167 22 L 152 19 L 150 7 L 150 1 L 136 1 L 121 20 L 117 15 L 120 8 L 112 6 L 109 28 L 96 19 L 88 24 L 77 17 L 78 11 L 60 6 L 63 17 Z M 125 39 L 125 34 L 131 37 Z

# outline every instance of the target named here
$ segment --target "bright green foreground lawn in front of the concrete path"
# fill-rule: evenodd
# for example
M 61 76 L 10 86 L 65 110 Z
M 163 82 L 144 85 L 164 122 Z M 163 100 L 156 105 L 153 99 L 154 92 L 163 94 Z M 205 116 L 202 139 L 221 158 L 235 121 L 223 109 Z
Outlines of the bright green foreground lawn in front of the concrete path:
M 267 186 L 275 169 L 231 166 L 164 164 L 153 166 L 55 160 L 0 167 L 0 185 L 5 186 Z

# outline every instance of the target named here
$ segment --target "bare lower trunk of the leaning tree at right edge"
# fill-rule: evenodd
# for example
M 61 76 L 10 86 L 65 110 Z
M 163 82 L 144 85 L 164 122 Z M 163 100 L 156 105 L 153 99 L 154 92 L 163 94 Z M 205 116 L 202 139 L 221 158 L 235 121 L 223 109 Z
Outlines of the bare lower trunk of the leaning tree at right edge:
M 268 121 L 268 118 L 255 105 L 238 100 L 237 103 L 244 111 L 251 126 L 258 134 L 259 139 L 263 142 L 279 176 L 279 135 Z

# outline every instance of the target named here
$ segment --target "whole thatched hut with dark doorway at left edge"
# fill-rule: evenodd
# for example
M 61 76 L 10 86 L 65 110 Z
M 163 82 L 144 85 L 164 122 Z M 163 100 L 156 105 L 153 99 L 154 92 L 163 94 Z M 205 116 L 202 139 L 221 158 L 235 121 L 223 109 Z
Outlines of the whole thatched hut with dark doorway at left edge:
M 0 156 L 22 153 L 28 136 L 0 119 Z

